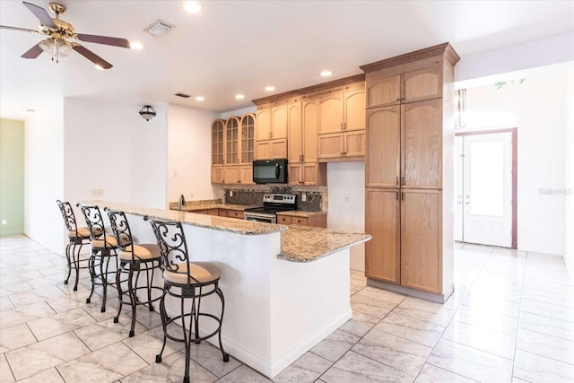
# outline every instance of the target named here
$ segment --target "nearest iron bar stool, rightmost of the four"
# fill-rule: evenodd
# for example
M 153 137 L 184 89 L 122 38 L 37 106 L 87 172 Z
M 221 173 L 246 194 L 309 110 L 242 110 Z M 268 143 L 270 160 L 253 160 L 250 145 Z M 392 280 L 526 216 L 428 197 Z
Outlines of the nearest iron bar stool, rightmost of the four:
M 163 326 L 163 346 L 161 352 L 155 356 L 155 362 L 161 362 L 161 354 L 165 349 L 167 338 L 186 344 L 186 370 L 184 383 L 189 383 L 189 350 L 191 342 L 199 344 L 204 339 L 213 335 L 219 336 L 219 347 L 223 355 L 223 361 L 229 361 L 230 355 L 225 353 L 222 344 L 222 320 L 225 310 L 225 300 L 219 288 L 219 279 L 222 271 L 210 262 L 190 262 L 187 252 L 186 236 L 181 222 L 165 222 L 153 220 L 147 216 L 145 221 L 152 224 L 153 233 L 158 240 L 161 251 L 161 264 L 163 266 L 164 288 L 160 300 L 161 325 Z M 222 314 L 218 318 L 215 315 L 200 310 L 201 300 L 216 294 L 222 302 Z M 181 300 L 180 313 L 173 318 L 168 317 L 165 309 L 166 296 Z M 191 305 L 184 304 L 185 300 L 191 300 Z M 189 309 L 186 309 L 186 306 Z M 199 318 L 211 318 L 217 324 L 217 328 L 208 335 L 199 335 Z M 186 318 L 189 318 L 189 327 L 186 326 Z M 168 331 L 170 323 L 178 321 L 182 327 L 183 337 L 172 335 Z M 192 329 L 194 330 L 192 332 Z

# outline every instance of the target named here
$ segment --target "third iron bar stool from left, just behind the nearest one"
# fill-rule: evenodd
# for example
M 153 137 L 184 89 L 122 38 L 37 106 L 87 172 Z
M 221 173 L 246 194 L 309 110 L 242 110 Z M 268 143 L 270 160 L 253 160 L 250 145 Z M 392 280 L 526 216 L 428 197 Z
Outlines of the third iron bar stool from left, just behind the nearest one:
M 161 299 L 161 293 L 152 299 L 152 290 L 163 292 L 162 286 L 153 286 L 153 272 L 161 268 L 161 253 L 160 248 L 156 244 L 139 244 L 135 245 L 133 242 L 132 232 L 129 229 L 129 222 L 127 222 L 126 214 L 117 210 L 110 210 L 104 208 L 108 212 L 109 225 L 114 232 L 117 242 L 117 250 L 119 251 L 119 268 L 116 274 L 117 293 L 119 295 L 119 308 L 117 309 L 117 317 L 114 318 L 114 323 L 117 323 L 119 315 L 122 312 L 122 304 L 129 303 L 132 308 L 132 326 L 129 331 L 129 336 L 134 336 L 135 332 L 135 315 L 137 305 L 148 305 L 150 311 L 153 311 L 152 302 Z M 145 272 L 146 283 L 145 285 L 138 286 L 137 282 L 140 278 L 140 273 Z M 151 272 L 151 273 L 150 273 Z M 121 274 L 127 273 L 127 291 L 122 291 Z M 135 283 L 134 283 L 135 273 Z M 145 290 L 147 293 L 147 300 L 140 300 L 137 297 L 137 292 Z M 124 294 L 127 295 L 128 301 L 124 301 Z

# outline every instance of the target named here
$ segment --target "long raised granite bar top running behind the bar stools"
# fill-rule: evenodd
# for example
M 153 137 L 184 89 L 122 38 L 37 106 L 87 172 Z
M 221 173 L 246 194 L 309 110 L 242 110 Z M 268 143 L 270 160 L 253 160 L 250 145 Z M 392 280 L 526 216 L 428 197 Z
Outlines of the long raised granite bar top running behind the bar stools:
M 179 212 L 177 210 L 153 209 L 149 207 L 118 204 L 108 201 L 82 201 L 81 203 L 86 205 L 98 205 L 102 210 L 104 207 L 109 207 L 110 209 L 120 210 L 125 213 L 140 216 L 148 215 L 150 218 L 181 222 L 190 226 L 213 229 L 216 231 L 229 231 L 245 235 L 270 234 L 287 230 L 287 226 L 285 225 L 238 220 L 237 218 L 218 217 L 206 214 Z

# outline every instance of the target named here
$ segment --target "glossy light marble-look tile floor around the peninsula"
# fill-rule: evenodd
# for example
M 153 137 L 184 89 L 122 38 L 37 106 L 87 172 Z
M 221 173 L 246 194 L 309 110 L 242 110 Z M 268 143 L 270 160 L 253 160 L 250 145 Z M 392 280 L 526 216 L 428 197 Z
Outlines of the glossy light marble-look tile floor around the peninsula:
M 275 382 L 572 382 L 574 283 L 562 257 L 456 245 L 444 304 L 366 287 L 352 272 L 353 318 Z M 25 237 L 0 239 L 0 382 L 179 382 L 181 344 L 161 363 L 158 314 L 112 321 L 65 285 L 64 258 Z M 113 294 L 112 294 L 113 295 Z M 209 344 L 192 348 L 194 382 L 268 382 Z

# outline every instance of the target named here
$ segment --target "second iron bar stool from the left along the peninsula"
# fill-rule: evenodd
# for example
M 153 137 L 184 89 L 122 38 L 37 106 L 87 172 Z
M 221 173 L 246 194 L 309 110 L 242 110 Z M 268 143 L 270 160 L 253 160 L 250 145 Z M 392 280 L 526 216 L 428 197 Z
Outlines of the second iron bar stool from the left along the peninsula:
M 116 286 L 115 273 L 117 270 L 117 241 L 113 234 L 106 232 L 103 216 L 100 207 L 95 205 L 76 204 L 82 210 L 83 216 L 90 231 L 91 257 L 90 257 L 90 276 L 91 292 L 86 303 L 90 303 L 94 287 L 100 285 L 103 290 L 101 297 L 101 312 L 106 312 L 106 300 L 108 298 L 108 286 Z M 123 239 L 126 240 L 126 239 Z M 109 261 L 113 260 L 113 269 L 109 270 Z M 105 266 L 104 266 L 105 264 Z M 96 266 L 99 266 L 97 270 Z M 109 282 L 109 276 L 114 274 L 113 283 Z M 100 281 L 98 281 L 100 280 Z

